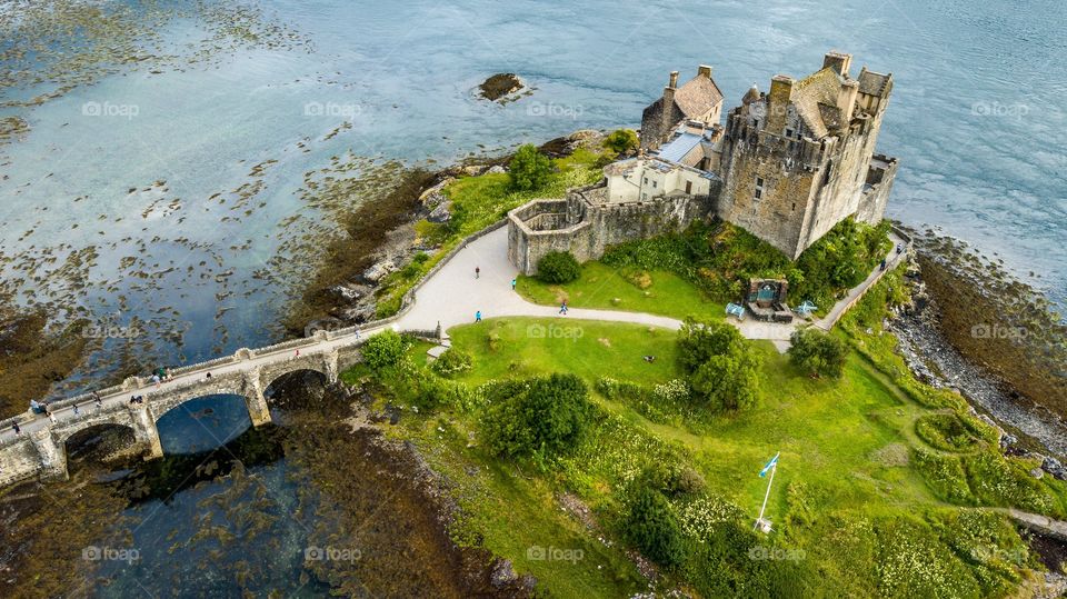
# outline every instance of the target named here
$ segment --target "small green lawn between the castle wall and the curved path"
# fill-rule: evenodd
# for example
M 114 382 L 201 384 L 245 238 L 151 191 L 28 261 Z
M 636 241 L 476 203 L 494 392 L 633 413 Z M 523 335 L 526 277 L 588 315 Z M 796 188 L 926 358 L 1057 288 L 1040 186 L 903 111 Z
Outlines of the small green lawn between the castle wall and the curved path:
M 600 262 L 586 262 L 581 277 L 567 284 L 548 284 L 532 277 L 519 277 L 518 292 L 534 303 L 572 308 L 600 308 L 646 312 L 677 318 L 697 316 L 721 319 L 726 306 L 714 302 L 688 281 L 668 271 L 635 271 L 628 278 Z

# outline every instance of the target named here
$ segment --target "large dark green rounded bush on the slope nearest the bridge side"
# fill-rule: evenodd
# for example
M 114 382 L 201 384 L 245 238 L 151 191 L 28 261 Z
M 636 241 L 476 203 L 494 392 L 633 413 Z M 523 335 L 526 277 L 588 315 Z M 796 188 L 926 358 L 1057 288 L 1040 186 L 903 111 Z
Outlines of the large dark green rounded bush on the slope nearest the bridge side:
M 558 453 L 581 437 L 592 420 L 586 383 L 552 375 L 493 386 L 482 416 L 482 437 L 497 456 Z

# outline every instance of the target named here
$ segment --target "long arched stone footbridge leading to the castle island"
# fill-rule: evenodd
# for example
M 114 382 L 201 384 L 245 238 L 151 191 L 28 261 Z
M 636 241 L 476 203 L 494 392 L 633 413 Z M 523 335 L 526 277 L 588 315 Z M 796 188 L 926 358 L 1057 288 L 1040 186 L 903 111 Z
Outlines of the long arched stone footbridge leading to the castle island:
M 370 336 L 386 330 L 379 325 L 360 331 L 352 327 L 339 331 L 319 331 L 312 338 L 298 339 L 171 371 L 160 383 L 143 377 L 127 379 L 120 386 L 102 389 L 98 406 L 92 393 L 49 406 L 52 418 L 24 413 L 0 422 L 0 487 L 33 477 L 67 477 L 67 442 L 74 436 L 103 427 L 124 427 L 133 431 L 136 449 L 146 459 L 162 457 L 156 422 L 163 415 L 193 399 L 213 395 L 245 398 L 252 426 L 270 422 L 263 391 L 281 377 L 311 370 L 336 382 L 338 373 L 361 359 L 360 346 Z M 398 327 L 393 327 L 398 328 Z M 425 338 L 441 338 L 438 331 L 408 331 Z M 143 396 L 132 403 L 130 398 Z M 14 433 L 13 425 L 21 428 Z

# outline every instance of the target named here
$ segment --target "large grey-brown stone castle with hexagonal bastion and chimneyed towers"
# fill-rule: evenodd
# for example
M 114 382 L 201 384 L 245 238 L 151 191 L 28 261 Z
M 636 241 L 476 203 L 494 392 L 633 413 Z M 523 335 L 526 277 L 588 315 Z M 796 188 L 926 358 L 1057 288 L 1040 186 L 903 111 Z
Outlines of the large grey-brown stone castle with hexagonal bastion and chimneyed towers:
M 607 246 L 682 230 L 718 217 L 796 259 L 841 220 L 881 221 L 897 160 L 875 153 L 893 76 L 829 52 L 800 80 L 757 86 L 722 119 L 722 92 L 701 66 L 645 109 L 636 158 L 564 200 L 534 200 L 509 214 L 509 258 L 527 274 L 549 251 L 579 260 Z

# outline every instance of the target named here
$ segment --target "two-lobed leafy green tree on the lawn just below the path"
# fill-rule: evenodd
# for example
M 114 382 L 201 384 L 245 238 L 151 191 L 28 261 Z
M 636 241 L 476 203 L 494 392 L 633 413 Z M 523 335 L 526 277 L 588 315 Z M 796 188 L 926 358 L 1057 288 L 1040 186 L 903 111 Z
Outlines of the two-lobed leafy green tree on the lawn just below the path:
M 756 405 L 759 359 L 736 328 L 687 318 L 678 345 L 678 360 L 695 397 L 717 410 Z

